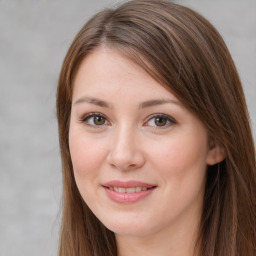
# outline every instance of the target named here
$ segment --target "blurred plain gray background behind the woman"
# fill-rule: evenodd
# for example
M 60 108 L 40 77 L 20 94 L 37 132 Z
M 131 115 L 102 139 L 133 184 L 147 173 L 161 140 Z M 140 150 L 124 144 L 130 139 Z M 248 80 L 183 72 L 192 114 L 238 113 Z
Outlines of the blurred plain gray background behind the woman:
M 0 256 L 56 255 L 61 168 L 58 72 L 73 37 L 118 1 L 0 0 Z M 223 35 L 256 134 L 256 1 L 178 0 Z

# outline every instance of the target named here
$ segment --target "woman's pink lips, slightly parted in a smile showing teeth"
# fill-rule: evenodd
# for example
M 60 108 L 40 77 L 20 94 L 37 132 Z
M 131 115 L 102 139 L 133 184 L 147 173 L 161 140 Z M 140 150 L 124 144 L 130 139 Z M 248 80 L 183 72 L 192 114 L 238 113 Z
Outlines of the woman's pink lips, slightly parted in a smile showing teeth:
M 118 180 L 104 183 L 102 186 L 107 196 L 116 203 L 135 203 L 149 196 L 156 188 L 156 185 L 144 182 Z

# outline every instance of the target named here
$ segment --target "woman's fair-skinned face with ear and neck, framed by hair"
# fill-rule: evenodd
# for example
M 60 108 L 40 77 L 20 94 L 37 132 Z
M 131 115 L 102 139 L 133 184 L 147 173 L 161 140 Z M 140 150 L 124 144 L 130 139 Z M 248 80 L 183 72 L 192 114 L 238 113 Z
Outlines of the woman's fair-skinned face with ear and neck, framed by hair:
M 200 120 L 117 51 L 100 47 L 81 63 L 69 131 L 74 175 L 119 256 L 191 256 L 206 167 L 224 157 L 209 144 Z

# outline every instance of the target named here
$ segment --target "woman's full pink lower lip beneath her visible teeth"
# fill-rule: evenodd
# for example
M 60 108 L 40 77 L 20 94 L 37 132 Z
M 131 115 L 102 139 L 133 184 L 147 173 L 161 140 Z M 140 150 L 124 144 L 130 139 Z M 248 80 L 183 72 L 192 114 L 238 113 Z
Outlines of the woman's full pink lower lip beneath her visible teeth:
M 118 192 L 115 192 L 114 190 L 110 190 L 105 187 L 104 189 L 111 200 L 113 200 L 116 203 L 124 204 L 124 203 L 135 203 L 144 199 L 145 197 L 149 196 L 155 188 L 151 188 L 148 190 L 135 192 L 135 193 L 118 193 Z

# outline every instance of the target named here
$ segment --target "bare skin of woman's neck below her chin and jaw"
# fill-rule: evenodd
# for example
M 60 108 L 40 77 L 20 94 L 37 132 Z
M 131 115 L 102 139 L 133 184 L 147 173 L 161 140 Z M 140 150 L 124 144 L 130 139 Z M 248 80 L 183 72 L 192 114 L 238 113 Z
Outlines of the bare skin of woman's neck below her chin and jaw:
M 191 215 L 184 213 L 188 215 L 185 221 L 177 220 L 170 229 L 151 236 L 116 235 L 118 256 L 198 256 L 195 245 L 200 215 L 197 210 Z

